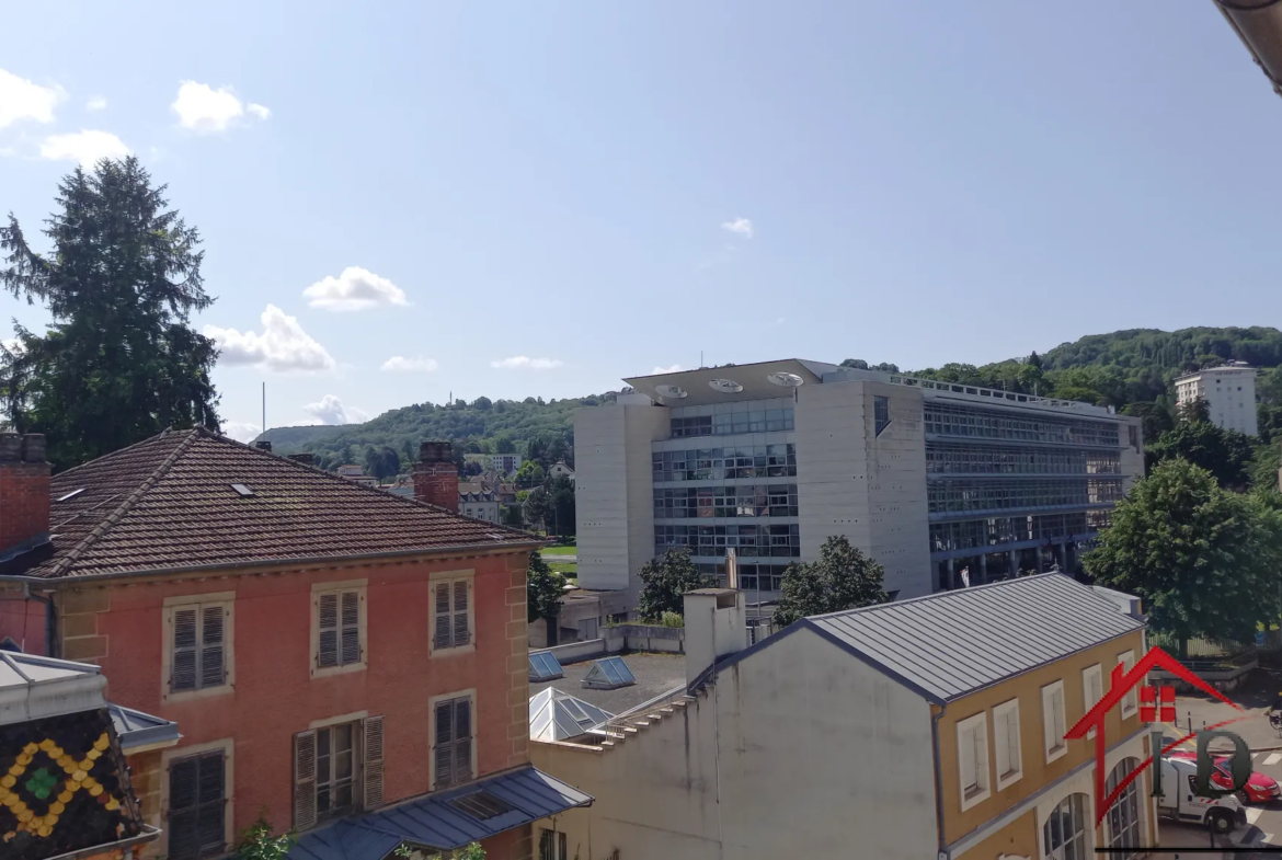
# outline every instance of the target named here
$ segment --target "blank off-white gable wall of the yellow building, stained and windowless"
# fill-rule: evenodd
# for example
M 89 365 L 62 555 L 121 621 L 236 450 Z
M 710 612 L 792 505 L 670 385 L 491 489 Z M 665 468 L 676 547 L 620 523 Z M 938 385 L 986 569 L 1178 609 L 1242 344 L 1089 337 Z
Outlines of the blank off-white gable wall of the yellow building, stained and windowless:
M 937 851 L 929 707 L 805 629 L 615 746 L 531 757 L 596 798 L 558 819 L 581 860 Z

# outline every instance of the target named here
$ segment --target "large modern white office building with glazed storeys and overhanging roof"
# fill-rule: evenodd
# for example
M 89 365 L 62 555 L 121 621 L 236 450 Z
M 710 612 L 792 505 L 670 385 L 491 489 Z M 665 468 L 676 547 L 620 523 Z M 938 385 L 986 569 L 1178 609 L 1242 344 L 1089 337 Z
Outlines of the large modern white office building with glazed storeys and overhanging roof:
M 626 382 L 574 418 L 590 590 L 687 546 L 767 600 L 835 534 L 900 597 L 1073 570 L 1144 469 L 1140 419 L 1090 404 L 796 359 Z

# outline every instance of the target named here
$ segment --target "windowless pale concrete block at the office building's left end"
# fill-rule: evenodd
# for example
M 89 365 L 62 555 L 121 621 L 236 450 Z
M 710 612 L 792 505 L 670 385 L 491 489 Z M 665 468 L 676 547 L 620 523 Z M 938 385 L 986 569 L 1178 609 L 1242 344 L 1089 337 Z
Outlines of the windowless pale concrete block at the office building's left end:
M 668 432 L 663 406 L 608 404 L 574 414 L 581 587 L 638 591 L 637 573 L 654 556 L 650 442 Z

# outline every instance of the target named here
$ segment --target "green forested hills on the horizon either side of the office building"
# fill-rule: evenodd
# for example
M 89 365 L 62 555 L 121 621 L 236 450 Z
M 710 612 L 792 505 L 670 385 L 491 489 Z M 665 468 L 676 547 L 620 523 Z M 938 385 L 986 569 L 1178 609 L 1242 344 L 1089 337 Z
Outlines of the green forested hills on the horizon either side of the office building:
M 1145 436 L 1155 440 L 1173 423 L 1170 381 L 1181 373 L 1226 361 L 1246 361 L 1260 368 L 1282 367 L 1282 332 L 1276 328 L 1185 328 L 1163 332 L 1132 328 L 1110 335 L 1090 335 L 1061 343 L 1044 355 L 1009 359 L 977 367 L 946 364 L 909 372 L 950 382 L 1006 388 L 1067 400 L 1115 406 L 1145 418 Z M 847 365 L 868 367 L 847 359 Z M 895 365 L 873 365 L 896 369 Z M 1261 434 L 1270 438 L 1274 422 L 1264 411 L 1282 413 L 1282 372 L 1265 374 L 1259 392 Z M 403 460 L 413 459 L 424 438 L 447 438 L 464 450 L 523 452 L 529 442 L 573 446 L 573 415 L 581 406 L 613 400 L 614 395 L 523 401 L 478 397 L 470 404 L 414 404 L 395 409 L 364 424 L 342 427 L 279 427 L 259 438 L 271 440 L 278 452 L 313 451 L 322 465 L 362 463 L 368 447 L 388 447 Z M 1278 423 L 1282 423 L 1279 414 Z

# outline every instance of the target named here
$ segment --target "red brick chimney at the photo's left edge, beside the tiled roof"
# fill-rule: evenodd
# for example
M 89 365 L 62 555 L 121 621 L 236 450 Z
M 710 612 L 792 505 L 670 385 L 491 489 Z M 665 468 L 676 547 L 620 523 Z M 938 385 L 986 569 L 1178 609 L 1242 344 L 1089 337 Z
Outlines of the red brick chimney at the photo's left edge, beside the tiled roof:
M 42 433 L 0 433 L 0 558 L 49 541 L 49 463 Z

